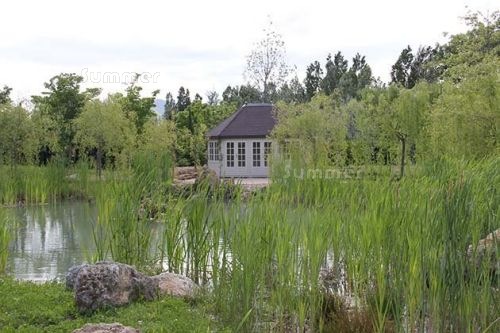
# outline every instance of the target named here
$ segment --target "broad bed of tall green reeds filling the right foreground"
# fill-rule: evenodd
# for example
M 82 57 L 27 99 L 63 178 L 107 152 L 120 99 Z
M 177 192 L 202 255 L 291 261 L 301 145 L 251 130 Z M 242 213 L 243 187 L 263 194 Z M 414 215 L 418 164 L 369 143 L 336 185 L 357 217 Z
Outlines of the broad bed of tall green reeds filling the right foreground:
M 500 227 L 499 163 L 202 190 L 166 214 L 165 262 L 242 331 L 494 331 L 498 272 L 467 249 Z

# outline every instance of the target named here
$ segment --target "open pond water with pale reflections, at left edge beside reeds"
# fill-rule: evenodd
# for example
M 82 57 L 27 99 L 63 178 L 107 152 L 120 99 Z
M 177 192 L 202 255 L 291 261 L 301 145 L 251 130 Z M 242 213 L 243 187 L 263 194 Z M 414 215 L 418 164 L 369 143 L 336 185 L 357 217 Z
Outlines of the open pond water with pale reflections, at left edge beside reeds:
M 73 265 L 93 253 L 97 211 L 88 202 L 8 208 L 15 221 L 8 272 L 17 279 L 64 279 Z

